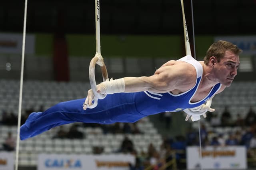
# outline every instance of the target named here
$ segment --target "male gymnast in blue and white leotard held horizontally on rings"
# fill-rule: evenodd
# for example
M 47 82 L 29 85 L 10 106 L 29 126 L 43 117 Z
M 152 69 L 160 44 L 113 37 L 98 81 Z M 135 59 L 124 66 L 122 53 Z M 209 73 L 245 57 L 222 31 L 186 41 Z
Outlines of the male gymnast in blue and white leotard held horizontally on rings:
M 133 123 L 166 111 L 183 110 L 192 116 L 192 121 L 197 121 L 200 115 L 214 111 L 210 108 L 212 98 L 231 85 L 241 52 L 230 42 L 217 41 L 209 47 L 204 61 L 187 55 L 166 62 L 149 77 L 104 81 L 97 85 L 97 93 L 107 95 L 98 100 L 95 108 L 88 108 L 94 100 L 90 89 L 86 99 L 58 103 L 44 112 L 31 113 L 20 128 L 20 139 L 68 123 Z

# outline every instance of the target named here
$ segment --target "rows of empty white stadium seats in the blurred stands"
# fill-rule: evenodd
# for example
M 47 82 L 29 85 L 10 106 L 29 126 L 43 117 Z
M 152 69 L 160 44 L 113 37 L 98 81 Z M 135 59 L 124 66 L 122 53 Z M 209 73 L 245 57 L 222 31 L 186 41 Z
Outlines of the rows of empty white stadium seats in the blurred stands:
M 0 87 L 0 110 L 17 115 L 19 81 L 2 79 Z M 35 111 L 39 111 L 43 106 L 45 110 L 61 101 L 83 98 L 89 88 L 90 84 L 84 82 L 24 81 L 22 114 L 25 113 L 25 109 L 33 108 Z M 230 112 L 234 117 L 237 113 L 246 113 L 250 105 L 256 109 L 256 82 L 234 82 L 231 87 L 214 97 L 212 107 L 216 109 L 216 114 L 220 115 L 226 105 L 230 106 Z M 244 116 L 244 114 L 241 115 Z M 211 130 L 206 121 L 204 123 Z M 77 124 L 79 125 L 79 123 Z M 69 128 L 71 124 L 63 126 Z M 92 154 L 93 146 L 102 146 L 106 154 L 116 152 L 125 135 L 134 142 L 138 152 L 146 152 L 150 143 L 159 150 L 162 137 L 149 119 L 147 117 L 142 119 L 137 126 L 143 134 L 104 134 L 99 127 L 80 126 L 79 130 L 86 136 L 81 140 L 52 139 L 58 130 L 58 128 L 53 128 L 34 138 L 20 141 L 20 165 L 35 166 L 39 153 Z M 0 142 L 4 141 L 9 131 L 15 136 L 16 128 L 16 126 L 10 128 L 1 125 Z M 218 134 L 218 132 L 230 132 L 238 128 L 214 128 L 214 132 Z

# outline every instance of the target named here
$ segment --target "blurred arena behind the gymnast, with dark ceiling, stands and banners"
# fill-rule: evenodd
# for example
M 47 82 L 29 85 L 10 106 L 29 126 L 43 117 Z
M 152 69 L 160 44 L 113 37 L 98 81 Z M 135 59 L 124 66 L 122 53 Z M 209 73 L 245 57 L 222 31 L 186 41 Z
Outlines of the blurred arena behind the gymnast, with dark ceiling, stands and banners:
M 94 6 L 93 0 L 28 1 L 22 123 L 33 111 L 86 96 L 89 63 L 96 52 Z M 203 155 L 208 155 L 203 156 L 203 168 L 254 169 L 256 0 L 194 0 L 195 41 L 190 0 L 184 0 L 184 7 L 192 54 L 195 45 L 198 60 L 216 40 L 228 40 L 243 49 L 234 83 L 214 97 L 216 111 L 200 121 Z M 0 164 L 6 167 L 12 164 L 6 158 L 12 160 L 16 146 L 23 17 L 24 1 L 1 2 Z M 101 53 L 114 79 L 152 75 L 164 62 L 186 55 L 180 0 L 101 0 L 100 33 Z M 101 77 L 97 67 L 96 80 L 100 82 Z M 90 169 L 76 156 L 103 156 L 97 159 L 104 160 L 114 155 L 110 163 L 122 163 L 121 157 L 126 159 L 127 154 L 131 161 L 115 168 L 200 169 L 199 125 L 184 119 L 184 113 L 177 112 L 152 115 L 134 124 L 56 127 L 20 142 L 19 169 Z M 41 154 L 46 156 L 38 159 Z M 52 154 L 61 154 L 63 160 L 53 156 L 50 163 L 44 162 Z M 109 164 L 97 167 L 111 169 Z

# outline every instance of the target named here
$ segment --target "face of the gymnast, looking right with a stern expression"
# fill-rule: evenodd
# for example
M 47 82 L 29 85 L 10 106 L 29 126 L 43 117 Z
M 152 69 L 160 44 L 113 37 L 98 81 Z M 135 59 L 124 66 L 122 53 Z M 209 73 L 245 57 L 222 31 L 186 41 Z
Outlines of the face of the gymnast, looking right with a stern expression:
M 219 62 L 214 61 L 214 72 L 218 82 L 229 87 L 237 75 L 239 65 L 239 56 L 231 51 L 226 51 Z

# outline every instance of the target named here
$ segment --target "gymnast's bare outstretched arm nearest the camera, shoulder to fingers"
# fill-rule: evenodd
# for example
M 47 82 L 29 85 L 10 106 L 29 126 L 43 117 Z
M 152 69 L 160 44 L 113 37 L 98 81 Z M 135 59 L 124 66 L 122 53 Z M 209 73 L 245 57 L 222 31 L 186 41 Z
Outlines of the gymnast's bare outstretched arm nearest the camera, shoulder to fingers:
M 196 75 L 192 76 L 194 67 L 180 62 L 167 62 L 156 70 L 154 75 L 146 77 L 124 77 L 110 81 L 104 81 L 97 85 L 97 92 L 101 94 L 134 93 L 139 91 L 151 91 L 166 93 L 175 89 L 186 90 L 193 87 Z M 94 94 L 88 90 L 86 105 L 92 105 Z

